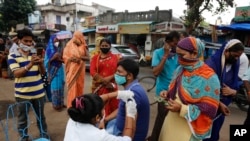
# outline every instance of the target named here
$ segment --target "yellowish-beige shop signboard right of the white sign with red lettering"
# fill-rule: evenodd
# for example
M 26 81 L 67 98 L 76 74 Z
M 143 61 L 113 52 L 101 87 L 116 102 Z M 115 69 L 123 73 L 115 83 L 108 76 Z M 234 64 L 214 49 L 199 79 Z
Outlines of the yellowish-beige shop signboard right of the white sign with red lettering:
M 119 33 L 121 34 L 148 34 L 149 32 L 150 24 L 119 25 Z

